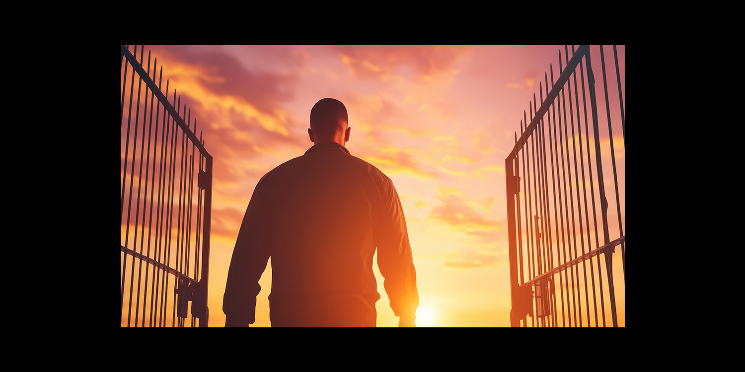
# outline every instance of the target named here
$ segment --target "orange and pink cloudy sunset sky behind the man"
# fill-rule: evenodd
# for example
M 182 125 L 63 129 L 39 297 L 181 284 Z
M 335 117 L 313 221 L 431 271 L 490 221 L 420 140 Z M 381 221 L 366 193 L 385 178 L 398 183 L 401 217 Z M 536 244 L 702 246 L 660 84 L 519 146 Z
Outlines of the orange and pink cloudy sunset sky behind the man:
M 382 170 L 399 192 L 416 266 L 417 325 L 510 326 L 504 159 L 551 64 L 554 77 L 559 76 L 564 45 L 145 45 L 146 56 L 148 50 L 163 66 L 164 92 L 167 78 L 169 97 L 177 89 L 182 105 L 186 102 L 191 109 L 192 121 L 197 120 L 197 135 L 203 132 L 205 147 L 215 159 L 210 327 L 224 325 L 230 257 L 256 182 L 313 145 L 307 133 L 310 111 L 324 97 L 346 105 L 352 127 L 349 152 Z M 618 46 L 625 94 L 624 50 Z M 615 70 L 612 45 L 603 51 L 606 68 Z M 571 58 L 571 45 L 569 53 Z M 598 116 L 604 118 L 597 46 L 591 55 Z M 609 94 L 618 96 L 615 72 L 609 77 Z M 624 140 L 620 120 L 612 124 L 623 193 Z M 607 148 L 603 125 L 600 138 Z M 609 221 L 618 231 L 611 169 L 608 165 L 605 170 L 606 193 L 613 199 Z M 621 198 L 622 215 L 623 205 Z M 623 327 L 620 248 L 616 252 L 615 295 Z M 377 267 L 375 275 L 382 296 L 378 327 L 396 327 L 398 318 Z M 252 327 L 270 327 L 270 265 L 259 283 Z

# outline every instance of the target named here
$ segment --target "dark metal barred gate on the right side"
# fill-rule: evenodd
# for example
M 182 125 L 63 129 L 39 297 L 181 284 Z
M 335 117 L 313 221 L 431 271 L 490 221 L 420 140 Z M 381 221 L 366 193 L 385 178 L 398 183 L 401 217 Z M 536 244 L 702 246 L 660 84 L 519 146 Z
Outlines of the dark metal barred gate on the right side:
M 618 177 L 624 163 L 617 169 L 614 150 L 614 140 L 619 148 L 618 142 L 625 144 L 618 54 L 614 45 L 615 77 L 611 71 L 608 80 L 600 45 L 603 115 L 598 114 L 595 83 L 600 81 L 595 80 L 589 45 L 576 52 L 572 46 L 571 52 L 568 60 L 565 47 L 562 68 L 559 51 L 560 76 L 554 82 L 551 65 L 551 91 L 544 100 L 543 87 L 549 86 L 545 74 L 539 84 L 540 106 L 536 109 L 533 94 L 530 121 L 524 114 L 522 135 L 516 135 L 504 161 L 512 327 L 618 327 L 615 285 L 625 280 L 625 176 L 620 185 Z M 609 94 L 609 83 L 617 86 L 618 96 L 613 89 Z M 601 125 L 603 116 L 606 123 Z M 620 137 L 614 135 L 612 122 L 621 124 Z M 529 124 L 523 129 L 524 123 Z M 609 167 L 612 182 L 603 176 Z M 606 183 L 615 194 L 606 194 Z M 621 272 L 614 274 L 613 253 L 619 245 Z

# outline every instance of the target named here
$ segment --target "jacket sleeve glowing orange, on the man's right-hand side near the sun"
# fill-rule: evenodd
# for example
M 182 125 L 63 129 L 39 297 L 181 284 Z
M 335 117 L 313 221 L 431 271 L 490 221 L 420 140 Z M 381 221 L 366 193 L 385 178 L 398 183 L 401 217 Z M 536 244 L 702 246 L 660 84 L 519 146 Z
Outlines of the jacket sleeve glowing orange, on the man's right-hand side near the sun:
M 413 318 L 419 306 L 414 269 L 406 231 L 404 210 L 393 182 L 387 179 L 375 223 L 378 268 L 383 275 L 385 292 L 396 316 Z

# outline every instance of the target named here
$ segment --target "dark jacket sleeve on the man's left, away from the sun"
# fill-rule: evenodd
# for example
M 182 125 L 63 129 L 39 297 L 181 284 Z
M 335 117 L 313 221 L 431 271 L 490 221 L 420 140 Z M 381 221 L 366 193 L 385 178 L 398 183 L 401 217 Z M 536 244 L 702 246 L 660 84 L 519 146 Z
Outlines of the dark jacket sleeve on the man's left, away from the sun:
M 262 195 L 267 176 L 256 185 L 235 240 L 223 295 L 226 327 L 247 327 L 256 321 L 256 296 L 261 291 L 259 278 L 270 255 L 269 234 L 265 230 L 268 211 Z

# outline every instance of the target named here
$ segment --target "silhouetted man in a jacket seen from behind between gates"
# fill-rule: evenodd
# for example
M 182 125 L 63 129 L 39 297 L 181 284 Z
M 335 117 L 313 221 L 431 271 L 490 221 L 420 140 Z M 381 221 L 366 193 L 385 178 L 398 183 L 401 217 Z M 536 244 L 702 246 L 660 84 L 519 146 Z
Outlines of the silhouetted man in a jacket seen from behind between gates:
M 255 321 L 272 258 L 272 327 L 375 327 L 373 254 L 399 327 L 416 327 L 416 272 L 393 182 L 349 154 L 346 107 L 311 109 L 314 146 L 259 180 L 235 242 L 223 297 L 226 327 Z

